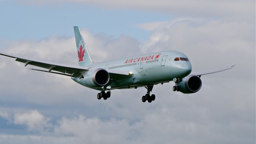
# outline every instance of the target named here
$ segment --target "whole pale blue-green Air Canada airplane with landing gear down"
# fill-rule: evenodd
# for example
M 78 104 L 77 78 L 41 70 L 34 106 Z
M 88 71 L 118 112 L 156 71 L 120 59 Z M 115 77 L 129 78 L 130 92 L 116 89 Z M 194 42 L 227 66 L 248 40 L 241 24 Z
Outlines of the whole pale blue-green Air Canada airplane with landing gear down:
M 153 52 L 118 60 L 94 62 L 78 26 L 74 26 L 74 33 L 78 66 L 34 60 L 4 52 L 0 52 L 0 55 L 14 58 L 15 61 L 24 63 L 24 66 L 32 65 L 47 69 L 30 70 L 70 76 L 78 84 L 100 90 L 97 94 L 99 100 L 110 98 L 111 90 L 145 87 L 147 92 L 142 96 L 142 102 L 149 103 L 156 98 L 154 94 L 150 95 L 156 84 L 173 81 L 173 91 L 191 94 L 201 89 L 202 75 L 221 72 L 235 66 L 233 64 L 217 70 L 191 73 L 192 66 L 188 57 L 177 51 Z

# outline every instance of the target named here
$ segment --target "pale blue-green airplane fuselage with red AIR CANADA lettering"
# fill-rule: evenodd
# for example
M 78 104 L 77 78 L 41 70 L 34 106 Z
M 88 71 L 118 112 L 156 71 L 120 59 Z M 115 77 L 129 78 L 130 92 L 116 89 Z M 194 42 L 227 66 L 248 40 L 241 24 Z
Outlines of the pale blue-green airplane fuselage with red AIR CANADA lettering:
M 118 60 L 98 62 L 88 67 L 104 68 L 107 71 L 130 71 L 131 76 L 110 81 L 109 89 L 137 88 L 170 82 L 174 78 L 184 78 L 192 71 L 188 57 L 177 51 L 162 51 L 140 56 L 132 56 Z M 89 87 L 84 79 L 72 78 L 72 80 Z M 92 87 L 90 87 L 92 88 Z M 101 87 L 93 88 L 101 90 Z

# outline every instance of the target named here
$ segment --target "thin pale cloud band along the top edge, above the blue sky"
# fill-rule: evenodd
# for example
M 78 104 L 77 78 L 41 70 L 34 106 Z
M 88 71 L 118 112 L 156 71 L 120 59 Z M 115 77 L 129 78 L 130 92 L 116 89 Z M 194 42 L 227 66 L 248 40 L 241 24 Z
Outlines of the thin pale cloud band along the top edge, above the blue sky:
M 22 4 L 63 4 L 63 2 L 74 4 L 88 4 L 110 9 L 137 9 L 154 12 L 162 12 L 183 16 L 239 16 L 243 17 L 255 13 L 254 0 L 18 0 Z

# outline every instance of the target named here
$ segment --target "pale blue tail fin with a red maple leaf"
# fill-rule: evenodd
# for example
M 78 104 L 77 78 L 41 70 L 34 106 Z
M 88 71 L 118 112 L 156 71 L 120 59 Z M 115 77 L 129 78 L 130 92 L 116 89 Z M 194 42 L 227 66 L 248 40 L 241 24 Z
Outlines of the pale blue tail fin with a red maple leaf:
M 74 26 L 74 32 L 76 38 L 76 50 L 78 53 L 79 66 L 87 66 L 94 63 L 78 26 Z

